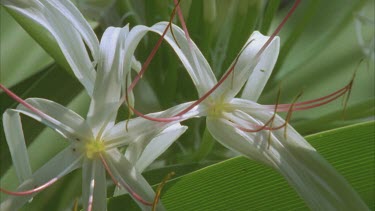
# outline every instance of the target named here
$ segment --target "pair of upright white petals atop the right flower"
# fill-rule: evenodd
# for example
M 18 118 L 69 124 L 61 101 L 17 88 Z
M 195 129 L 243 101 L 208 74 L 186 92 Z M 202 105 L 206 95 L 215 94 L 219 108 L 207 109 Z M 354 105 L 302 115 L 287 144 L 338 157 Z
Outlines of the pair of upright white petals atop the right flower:
M 271 75 L 279 53 L 279 37 L 275 37 L 269 46 L 261 54 L 260 59 L 256 55 L 269 37 L 255 31 L 251 34 L 246 44 L 240 51 L 234 71 L 214 92 L 214 96 L 220 99 L 232 99 L 248 81 L 244 89 L 244 98 L 257 99 Z M 235 60 L 236 61 L 236 60 Z M 231 64 L 235 64 L 235 61 Z M 227 72 L 230 68 L 227 70 Z

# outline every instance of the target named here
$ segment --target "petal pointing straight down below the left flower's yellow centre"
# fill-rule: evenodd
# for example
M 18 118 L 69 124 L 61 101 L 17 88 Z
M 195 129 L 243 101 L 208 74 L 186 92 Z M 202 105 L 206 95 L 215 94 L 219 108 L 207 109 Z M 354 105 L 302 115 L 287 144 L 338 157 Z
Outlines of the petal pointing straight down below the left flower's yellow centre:
M 89 201 L 92 201 L 91 203 Z M 105 168 L 99 159 L 85 159 L 82 166 L 82 203 L 87 210 L 102 211 L 107 208 L 107 181 Z

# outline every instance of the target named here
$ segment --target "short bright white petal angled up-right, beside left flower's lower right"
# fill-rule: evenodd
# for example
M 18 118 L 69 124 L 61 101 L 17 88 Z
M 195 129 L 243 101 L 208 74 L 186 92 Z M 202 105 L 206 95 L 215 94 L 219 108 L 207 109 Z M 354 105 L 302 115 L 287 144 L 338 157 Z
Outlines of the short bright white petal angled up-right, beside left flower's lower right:
M 144 143 L 146 146 L 142 147 L 144 150 L 141 157 L 139 157 L 137 160 L 135 166 L 136 169 L 139 172 L 143 172 L 143 170 L 154 162 L 154 160 L 156 160 L 156 158 L 158 158 L 163 152 L 165 152 L 173 144 L 173 142 L 186 131 L 186 129 L 186 126 L 181 126 L 179 123 L 177 123 L 163 130 L 148 143 Z

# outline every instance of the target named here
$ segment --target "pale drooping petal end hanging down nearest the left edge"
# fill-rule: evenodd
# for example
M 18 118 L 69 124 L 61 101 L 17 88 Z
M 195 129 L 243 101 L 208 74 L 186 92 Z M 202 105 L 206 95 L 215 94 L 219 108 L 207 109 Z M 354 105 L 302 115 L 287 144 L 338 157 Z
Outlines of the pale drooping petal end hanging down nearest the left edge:
M 18 181 L 22 183 L 31 176 L 31 166 L 18 112 L 8 109 L 3 114 L 5 138 L 12 156 Z

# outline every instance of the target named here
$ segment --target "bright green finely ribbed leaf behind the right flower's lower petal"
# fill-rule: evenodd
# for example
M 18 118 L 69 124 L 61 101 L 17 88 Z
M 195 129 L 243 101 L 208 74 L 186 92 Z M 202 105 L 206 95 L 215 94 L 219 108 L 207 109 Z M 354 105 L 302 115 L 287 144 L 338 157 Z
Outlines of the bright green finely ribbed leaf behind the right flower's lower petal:
M 306 139 L 374 207 L 375 122 L 307 136 Z M 301 210 L 307 209 L 276 171 L 236 157 L 167 183 L 162 202 L 168 210 Z M 136 205 L 128 196 L 109 199 L 108 210 Z M 133 210 L 132 209 L 132 210 Z

